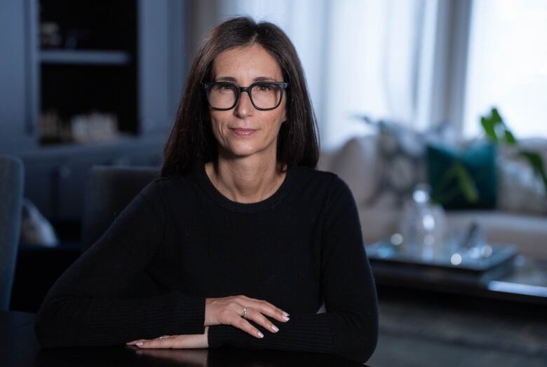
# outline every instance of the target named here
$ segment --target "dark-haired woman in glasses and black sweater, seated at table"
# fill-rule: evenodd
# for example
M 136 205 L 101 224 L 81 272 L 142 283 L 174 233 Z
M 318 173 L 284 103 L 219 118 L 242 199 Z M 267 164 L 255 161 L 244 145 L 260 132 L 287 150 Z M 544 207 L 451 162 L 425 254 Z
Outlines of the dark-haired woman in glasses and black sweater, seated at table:
M 248 18 L 216 27 L 191 67 L 162 178 L 54 284 L 36 319 L 39 342 L 366 361 L 377 300 L 356 205 L 317 160 L 288 37 Z

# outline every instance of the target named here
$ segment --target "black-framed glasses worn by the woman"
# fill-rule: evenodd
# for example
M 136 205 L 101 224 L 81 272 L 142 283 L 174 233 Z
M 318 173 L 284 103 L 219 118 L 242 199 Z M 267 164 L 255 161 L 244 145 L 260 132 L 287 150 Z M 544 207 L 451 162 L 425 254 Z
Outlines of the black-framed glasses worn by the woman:
M 201 83 L 207 95 L 207 101 L 212 109 L 227 111 L 233 109 L 239 102 L 241 92 L 247 92 L 255 109 L 268 111 L 278 108 L 283 99 L 283 91 L 289 83 L 276 81 L 259 81 L 248 87 L 240 87 L 229 81 L 213 81 Z

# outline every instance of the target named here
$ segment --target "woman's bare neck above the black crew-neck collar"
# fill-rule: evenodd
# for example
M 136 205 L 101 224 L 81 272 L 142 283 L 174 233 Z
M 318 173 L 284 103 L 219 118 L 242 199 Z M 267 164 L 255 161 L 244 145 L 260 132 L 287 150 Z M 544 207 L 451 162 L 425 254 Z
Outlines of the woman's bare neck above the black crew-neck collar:
M 245 158 L 219 155 L 205 164 L 205 172 L 222 195 L 232 201 L 259 202 L 273 195 L 285 179 L 276 159 L 251 155 Z

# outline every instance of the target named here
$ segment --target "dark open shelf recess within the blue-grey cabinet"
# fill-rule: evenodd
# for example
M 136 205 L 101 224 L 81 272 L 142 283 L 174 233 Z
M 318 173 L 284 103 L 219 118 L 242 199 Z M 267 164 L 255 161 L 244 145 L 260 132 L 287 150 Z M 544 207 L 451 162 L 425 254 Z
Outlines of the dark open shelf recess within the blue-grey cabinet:
M 139 133 L 137 5 L 136 0 L 39 0 L 40 144 Z M 101 129 L 107 132 L 97 134 Z

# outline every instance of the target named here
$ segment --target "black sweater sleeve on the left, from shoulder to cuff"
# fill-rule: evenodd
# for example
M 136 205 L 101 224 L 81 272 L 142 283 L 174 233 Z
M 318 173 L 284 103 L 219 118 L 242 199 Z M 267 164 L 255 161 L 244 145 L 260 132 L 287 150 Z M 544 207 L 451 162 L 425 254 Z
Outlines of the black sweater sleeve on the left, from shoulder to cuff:
M 127 296 L 161 246 L 166 222 L 161 195 L 150 183 L 53 284 L 36 315 L 40 344 L 116 345 L 203 333 L 205 298 L 159 290 L 147 297 Z

